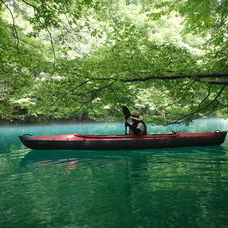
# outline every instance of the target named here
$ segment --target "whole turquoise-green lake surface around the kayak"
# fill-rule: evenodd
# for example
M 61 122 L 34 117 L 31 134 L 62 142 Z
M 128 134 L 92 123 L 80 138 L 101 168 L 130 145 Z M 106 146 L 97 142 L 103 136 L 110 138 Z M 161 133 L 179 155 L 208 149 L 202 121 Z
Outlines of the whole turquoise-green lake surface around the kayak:
M 227 130 L 228 119 L 150 133 Z M 221 146 L 33 151 L 18 135 L 123 134 L 121 123 L 0 127 L 0 227 L 228 227 L 228 139 Z

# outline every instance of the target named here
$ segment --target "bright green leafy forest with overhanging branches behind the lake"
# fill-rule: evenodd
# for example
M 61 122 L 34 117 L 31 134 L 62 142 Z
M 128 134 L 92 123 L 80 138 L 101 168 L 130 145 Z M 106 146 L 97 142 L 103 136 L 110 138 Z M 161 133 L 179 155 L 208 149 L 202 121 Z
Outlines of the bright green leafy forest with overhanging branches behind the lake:
M 0 120 L 171 124 L 228 112 L 228 0 L 0 0 Z

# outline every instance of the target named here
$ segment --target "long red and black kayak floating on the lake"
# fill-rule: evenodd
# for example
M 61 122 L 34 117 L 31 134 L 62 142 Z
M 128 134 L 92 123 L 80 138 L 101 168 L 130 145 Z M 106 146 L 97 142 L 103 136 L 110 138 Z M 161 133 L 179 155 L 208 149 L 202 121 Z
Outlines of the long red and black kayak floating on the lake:
M 171 147 L 214 146 L 226 138 L 226 131 L 207 133 L 175 132 L 172 134 L 131 135 L 48 135 L 19 136 L 33 150 L 138 150 Z

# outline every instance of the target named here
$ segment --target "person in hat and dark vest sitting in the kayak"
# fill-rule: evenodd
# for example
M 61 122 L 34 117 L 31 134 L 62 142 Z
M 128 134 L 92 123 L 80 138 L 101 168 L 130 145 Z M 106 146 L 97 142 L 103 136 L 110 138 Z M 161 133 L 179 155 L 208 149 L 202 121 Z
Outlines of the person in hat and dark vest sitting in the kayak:
M 130 115 L 130 119 L 132 120 L 132 124 L 129 124 L 128 122 L 125 123 L 125 126 L 130 129 L 130 135 L 147 135 L 146 124 L 138 111 L 133 111 Z

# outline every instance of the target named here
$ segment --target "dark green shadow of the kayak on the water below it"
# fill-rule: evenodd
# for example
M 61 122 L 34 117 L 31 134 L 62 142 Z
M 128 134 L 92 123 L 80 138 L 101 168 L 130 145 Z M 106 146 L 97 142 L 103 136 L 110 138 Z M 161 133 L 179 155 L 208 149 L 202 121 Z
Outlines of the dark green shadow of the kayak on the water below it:
M 183 147 L 166 148 L 153 150 L 31 150 L 26 154 L 21 162 L 22 167 L 38 167 L 51 164 L 62 163 L 80 163 L 92 160 L 147 160 L 151 157 L 175 157 L 184 155 L 193 156 L 199 154 L 208 154 L 209 156 L 218 156 L 226 153 L 222 146 L 211 147 Z

